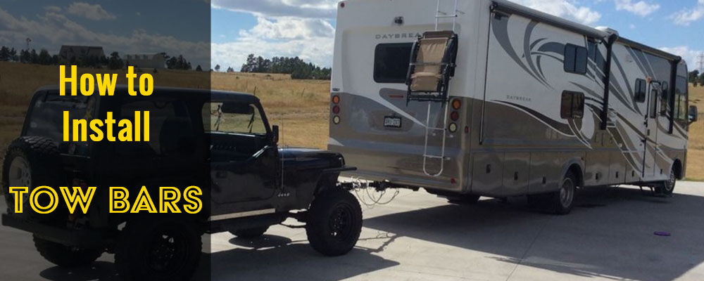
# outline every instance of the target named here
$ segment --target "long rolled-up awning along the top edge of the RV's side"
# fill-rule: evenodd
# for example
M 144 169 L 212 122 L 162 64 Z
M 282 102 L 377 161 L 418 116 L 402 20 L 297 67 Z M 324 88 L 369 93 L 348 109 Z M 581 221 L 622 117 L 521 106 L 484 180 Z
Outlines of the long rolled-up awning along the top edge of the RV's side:
M 526 6 L 521 6 L 519 4 L 515 4 L 513 2 L 509 2 L 506 0 L 494 0 L 492 2 L 494 4 L 492 6 L 492 9 L 495 11 L 503 11 L 504 13 L 521 15 L 525 18 L 537 20 L 539 22 L 543 22 L 548 25 L 554 25 L 555 27 L 564 28 L 565 30 L 571 30 L 571 31 L 577 32 L 579 34 L 584 34 L 588 37 L 607 40 L 611 34 L 609 32 L 598 30 L 596 28 L 589 27 L 587 25 L 582 25 L 577 22 L 572 22 L 570 20 L 565 20 L 563 18 L 556 17 L 555 15 L 543 13 L 541 11 L 537 11 L 532 8 L 528 8 Z M 662 56 L 663 58 L 667 58 L 668 60 L 680 60 L 681 59 L 681 58 L 679 58 L 679 56 L 673 55 L 672 53 L 667 53 L 667 52 L 662 51 L 658 48 L 646 46 L 644 44 L 638 43 L 636 41 L 632 41 L 630 39 L 626 39 L 624 37 L 619 36 L 619 39 L 617 39 L 617 41 L 620 42 L 621 44 L 631 46 L 633 48 L 639 48 L 642 51 L 646 51 L 648 53 L 653 53 L 654 55 Z

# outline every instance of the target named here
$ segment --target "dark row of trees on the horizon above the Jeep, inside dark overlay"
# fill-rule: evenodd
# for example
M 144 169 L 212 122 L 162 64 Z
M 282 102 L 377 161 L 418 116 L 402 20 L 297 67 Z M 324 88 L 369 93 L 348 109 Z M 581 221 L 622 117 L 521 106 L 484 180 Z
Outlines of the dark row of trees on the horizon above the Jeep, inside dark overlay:
M 183 55 L 170 56 L 166 53 L 162 53 L 166 60 L 166 68 L 170 70 L 191 70 L 191 63 L 189 63 Z M 85 57 L 72 57 L 70 59 L 64 59 L 60 56 L 54 54 L 49 54 L 45 48 L 42 48 L 39 53 L 37 50 L 32 48 L 32 50 L 20 50 L 17 51 L 15 48 L 8 48 L 6 46 L 0 47 L 0 61 L 11 61 L 16 63 L 33 63 L 37 65 L 77 65 L 79 67 L 93 67 L 93 68 L 103 68 L 107 67 L 111 70 L 120 70 L 127 67 L 130 64 L 129 60 L 123 60 L 120 58 L 120 53 L 113 52 L 108 57 L 105 55 L 97 56 L 90 55 Z M 196 67 L 199 70 L 200 65 Z

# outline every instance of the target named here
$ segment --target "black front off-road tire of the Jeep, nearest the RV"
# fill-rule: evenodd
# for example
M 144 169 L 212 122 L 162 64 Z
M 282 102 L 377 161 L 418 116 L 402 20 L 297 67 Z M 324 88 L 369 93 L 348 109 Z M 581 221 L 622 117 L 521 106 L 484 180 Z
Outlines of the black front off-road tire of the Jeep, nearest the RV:
M 362 208 L 350 192 L 330 189 L 315 196 L 306 221 L 310 246 L 325 256 L 347 254 L 362 231 Z

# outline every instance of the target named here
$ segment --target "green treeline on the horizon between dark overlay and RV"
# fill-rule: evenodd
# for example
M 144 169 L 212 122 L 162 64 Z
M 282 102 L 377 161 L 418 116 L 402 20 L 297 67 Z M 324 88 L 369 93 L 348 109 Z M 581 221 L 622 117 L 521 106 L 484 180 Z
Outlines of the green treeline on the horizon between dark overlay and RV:
M 283 73 L 291 74 L 291 79 L 329 80 L 331 69 L 306 63 L 300 58 L 274 57 L 262 58 L 250 54 L 242 65 L 240 72 Z

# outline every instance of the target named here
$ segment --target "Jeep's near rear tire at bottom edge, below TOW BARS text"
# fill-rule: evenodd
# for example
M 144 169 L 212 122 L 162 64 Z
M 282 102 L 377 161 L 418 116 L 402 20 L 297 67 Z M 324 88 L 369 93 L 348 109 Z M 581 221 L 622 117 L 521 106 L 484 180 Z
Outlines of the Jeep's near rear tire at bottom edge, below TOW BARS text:
M 202 231 L 180 216 L 133 218 L 115 247 L 115 267 L 126 281 L 191 280 L 201 259 Z

